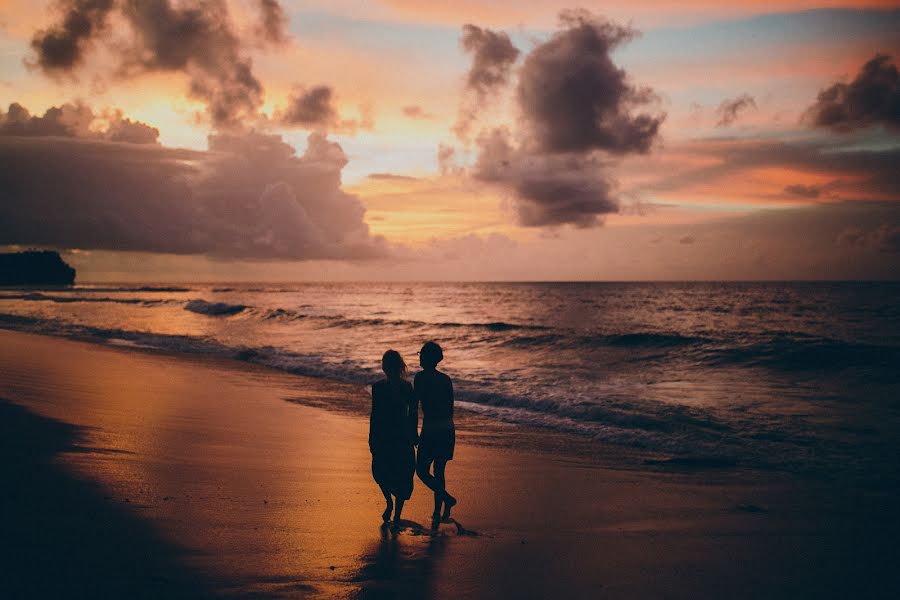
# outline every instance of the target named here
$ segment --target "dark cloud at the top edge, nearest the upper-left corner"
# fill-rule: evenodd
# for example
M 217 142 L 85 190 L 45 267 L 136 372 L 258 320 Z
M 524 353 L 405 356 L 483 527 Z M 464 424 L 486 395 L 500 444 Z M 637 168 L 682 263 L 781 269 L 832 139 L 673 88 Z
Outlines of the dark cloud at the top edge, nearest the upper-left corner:
M 81 63 L 92 39 L 106 28 L 113 0 L 63 0 L 60 21 L 34 34 L 37 65 L 48 72 L 67 71 Z

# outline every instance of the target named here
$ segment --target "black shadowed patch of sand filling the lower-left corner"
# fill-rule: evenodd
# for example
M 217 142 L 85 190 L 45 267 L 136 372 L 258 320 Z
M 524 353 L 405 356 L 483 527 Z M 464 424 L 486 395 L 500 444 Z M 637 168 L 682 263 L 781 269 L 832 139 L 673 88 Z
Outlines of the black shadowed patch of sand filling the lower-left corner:
M 57 462 L 84 430 L 0 400 L 0 596 L 212 598 L 221 585 L 137 511 Z

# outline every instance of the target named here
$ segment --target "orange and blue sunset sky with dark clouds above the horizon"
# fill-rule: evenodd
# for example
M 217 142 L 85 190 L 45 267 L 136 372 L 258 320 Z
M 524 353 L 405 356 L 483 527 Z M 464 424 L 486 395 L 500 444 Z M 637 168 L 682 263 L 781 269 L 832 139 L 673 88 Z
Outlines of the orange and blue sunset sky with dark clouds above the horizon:
M 894 279 L 900 2 L 0 0 L 0 244 L 97 280 Z

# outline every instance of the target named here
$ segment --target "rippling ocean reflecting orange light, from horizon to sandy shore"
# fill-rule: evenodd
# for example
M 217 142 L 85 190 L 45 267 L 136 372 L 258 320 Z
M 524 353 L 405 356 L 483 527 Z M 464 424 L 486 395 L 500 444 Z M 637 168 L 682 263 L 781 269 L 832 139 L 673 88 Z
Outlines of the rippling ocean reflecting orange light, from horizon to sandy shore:
M 676 456 L 896 481 L 900 284 L 333 283 L 0 291 L 0 327 L 368 383 L 445 349 L 460 405 Z

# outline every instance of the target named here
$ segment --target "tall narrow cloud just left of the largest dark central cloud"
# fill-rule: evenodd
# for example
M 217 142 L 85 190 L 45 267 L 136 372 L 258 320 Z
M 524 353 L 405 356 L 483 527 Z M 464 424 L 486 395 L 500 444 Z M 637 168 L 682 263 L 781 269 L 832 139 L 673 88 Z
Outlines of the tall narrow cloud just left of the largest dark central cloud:
M 468 141 L 478 112 L 490 102 L 491 94 L 509 81 L 519 49 L 506 33 L 472 24 L 463 25 L 460 43 L 472 55 L 472 66 L 466 75 L 463 102 L 453 131 L 461 140 Z

